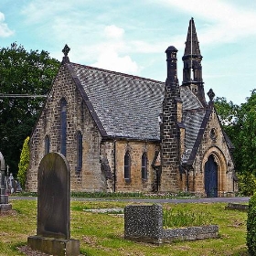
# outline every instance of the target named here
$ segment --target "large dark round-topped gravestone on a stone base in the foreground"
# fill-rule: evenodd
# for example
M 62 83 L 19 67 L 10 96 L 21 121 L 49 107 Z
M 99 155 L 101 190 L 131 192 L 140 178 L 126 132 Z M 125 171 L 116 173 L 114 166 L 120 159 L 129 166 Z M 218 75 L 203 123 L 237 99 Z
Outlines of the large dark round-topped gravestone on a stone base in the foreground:
M 79 255 L 80 241 L 70 239 L 70 170 L 63 155 L 43 157 L 37 193 L 37 235 L 27 238 L 28 246 L 52 255 Z

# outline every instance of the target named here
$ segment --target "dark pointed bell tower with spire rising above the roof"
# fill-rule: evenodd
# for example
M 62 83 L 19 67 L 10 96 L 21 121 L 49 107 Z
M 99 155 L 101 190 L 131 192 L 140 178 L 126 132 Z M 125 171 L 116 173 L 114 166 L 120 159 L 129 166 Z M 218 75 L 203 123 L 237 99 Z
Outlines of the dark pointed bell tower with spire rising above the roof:
M 201 60 L 203 57 L 200 53 L 199 42 L 197 40 L 197 31 L 193 17 L 189 21 L 187 31 L 187 41 L 184 56 L 182 58 L 183 81 L 182 86 L 187 86 L 197 96 L 204 107 L 207 106 L 204 82 L 202 79 Z

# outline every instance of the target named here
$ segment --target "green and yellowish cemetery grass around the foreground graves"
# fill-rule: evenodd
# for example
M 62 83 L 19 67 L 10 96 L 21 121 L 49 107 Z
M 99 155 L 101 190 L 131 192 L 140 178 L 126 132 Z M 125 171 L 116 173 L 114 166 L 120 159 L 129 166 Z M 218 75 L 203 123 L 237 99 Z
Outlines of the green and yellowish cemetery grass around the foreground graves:
M 24 255 L 18 251 L 27 245 L 27 236 L 37 233 L 37 201 L 11 200 L 13 211 L 0 215 L 0 256 Z M 176 241 L 153 245 L 123 239 L 123 215 L 91 213 L 84 209 L 124 208 L 131 204 L 113 201 L 71 201 L 71 238 L 80 240 L 80 254 L 110 255 L 249 255 L 246 247 L 247 213 L 225 210 L 226 204 L 164 204 L 164 208 L 197 210 L 208 215 L 211 224 L 219 225 L 219 238 Z

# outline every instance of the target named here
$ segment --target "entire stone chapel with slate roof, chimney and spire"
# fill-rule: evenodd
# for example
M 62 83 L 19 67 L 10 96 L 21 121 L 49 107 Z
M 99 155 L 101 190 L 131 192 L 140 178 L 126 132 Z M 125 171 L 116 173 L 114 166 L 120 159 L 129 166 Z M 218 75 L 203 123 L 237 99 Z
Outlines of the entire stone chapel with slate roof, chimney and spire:
M 65 155 L 72 191 L 177 192 L 225 197 L 237 191 L 231 151 L 206 100 L 202 56 L 189 21 L 183 81 L 175 47 L 165 82 L 69 61 L 69 47 L 30 139 L 27 190 L 37 191 L 44 155 Z

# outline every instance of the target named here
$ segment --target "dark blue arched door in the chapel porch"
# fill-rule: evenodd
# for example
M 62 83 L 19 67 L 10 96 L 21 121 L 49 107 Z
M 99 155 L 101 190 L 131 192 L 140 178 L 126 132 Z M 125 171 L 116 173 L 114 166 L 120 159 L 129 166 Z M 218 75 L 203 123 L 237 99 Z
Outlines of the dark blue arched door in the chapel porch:
M 218 197 L 218 165 L 213 155 L 209 155 L 205 165 L 205 190 L 207 197 Z

